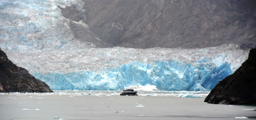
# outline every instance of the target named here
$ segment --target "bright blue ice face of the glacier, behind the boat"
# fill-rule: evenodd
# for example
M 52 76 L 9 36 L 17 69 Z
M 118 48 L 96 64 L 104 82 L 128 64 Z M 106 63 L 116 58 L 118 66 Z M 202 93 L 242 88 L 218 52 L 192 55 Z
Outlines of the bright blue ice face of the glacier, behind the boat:
M 204 60 L 206 61 L 206 60 Z M 125 87 L 155 85 L 158 90 L 211 90 L 233 73 L 230 63 L 198 61 L 194 65 L 178 61 L 124 64 L 100 72 L 32 73 L 53 90 L 118 90 Z

